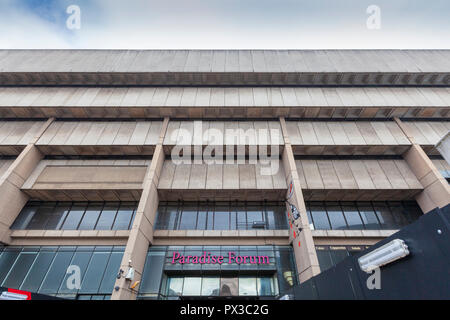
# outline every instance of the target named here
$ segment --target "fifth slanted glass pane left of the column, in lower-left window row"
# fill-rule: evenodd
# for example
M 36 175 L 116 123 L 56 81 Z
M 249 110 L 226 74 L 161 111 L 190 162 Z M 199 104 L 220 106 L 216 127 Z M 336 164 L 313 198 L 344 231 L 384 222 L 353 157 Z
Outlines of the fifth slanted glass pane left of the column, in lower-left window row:
M 42 250 L 39 252 L 33 266 L 30 268 L 20 290 L 37 292 L 41 286 L 42 280 L 55 257 L 56 248 L 53 251 Z

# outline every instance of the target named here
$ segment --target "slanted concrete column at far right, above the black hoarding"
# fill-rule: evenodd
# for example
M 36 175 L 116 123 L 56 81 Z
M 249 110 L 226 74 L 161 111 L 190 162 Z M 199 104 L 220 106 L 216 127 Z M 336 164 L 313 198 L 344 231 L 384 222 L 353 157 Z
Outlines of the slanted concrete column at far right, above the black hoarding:
M 436 207 L 445 207 L 450 203 L 450 187 L 447 180 L 436 169 L 422 147 L 416 143 L 408 127 L 398 118 L 395 118 L 395 121 L 412 143 L 411 148 L 403 154 L 403 158 L 424 188 L 416 196 L 417 203 L 424 213 Z

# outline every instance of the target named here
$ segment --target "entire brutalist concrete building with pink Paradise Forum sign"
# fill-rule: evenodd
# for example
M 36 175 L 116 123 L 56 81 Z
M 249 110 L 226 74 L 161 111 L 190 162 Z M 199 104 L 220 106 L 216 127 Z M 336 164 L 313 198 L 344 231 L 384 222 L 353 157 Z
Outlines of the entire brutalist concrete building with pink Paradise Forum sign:
M 0 51 L 0 287 L 278 299 L 450 202 L 448 50 Z

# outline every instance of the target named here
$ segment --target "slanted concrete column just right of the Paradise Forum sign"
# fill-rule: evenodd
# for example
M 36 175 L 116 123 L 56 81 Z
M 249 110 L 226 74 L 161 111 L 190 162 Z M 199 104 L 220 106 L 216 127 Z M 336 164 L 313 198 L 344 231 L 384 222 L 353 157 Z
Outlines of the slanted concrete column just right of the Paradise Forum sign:
M 303 200 L 303 193 L 298 178 L 297 167 L 295 165 L 294 153 L 286 130 L 286 122 L 284 118 L 280 118 L 281 129 L 284 137 L 284 151 L 282 155 L 283 166 L 285 170 L 286 183 L 289 186 L 292 182 L 293 192 L 289 198 L 289 202 L 297 207 L 300 213 L 301 232 L 295 230 L 295 226 L 291 225 L 289 229 L 289 240 L 294 249 L 295 262 L 297 265 L 298 279 L 300 283 L 305 282 L 309 278 L 320 273 L 319 261 L 317 260 L 316 249 L 311 230 L 309 228 L 308 215 L 306 214 L 306 206 Z M 289 190 L 288 190 L 289 193 Z M 286 208 L 290 213 L 290 207 L 286 204 Z

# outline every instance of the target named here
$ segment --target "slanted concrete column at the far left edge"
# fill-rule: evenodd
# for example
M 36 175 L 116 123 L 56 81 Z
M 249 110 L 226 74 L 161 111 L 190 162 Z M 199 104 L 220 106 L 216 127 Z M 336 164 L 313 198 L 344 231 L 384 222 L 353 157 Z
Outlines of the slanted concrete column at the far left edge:
M 21 190 L 22 185 L 44 157 L 35 143 L 53 120 L 51 118 L 42 125 L 0 180 L 0 243 L 11 242 L 10 227 L 28 201 L 28 196 Z

